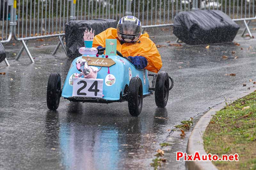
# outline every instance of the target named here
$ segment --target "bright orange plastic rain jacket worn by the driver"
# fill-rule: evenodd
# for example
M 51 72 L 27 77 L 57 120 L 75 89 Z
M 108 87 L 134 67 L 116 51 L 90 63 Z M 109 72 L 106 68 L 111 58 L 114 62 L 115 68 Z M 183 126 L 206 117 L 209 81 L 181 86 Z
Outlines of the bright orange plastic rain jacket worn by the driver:
M 147 70 L 157 73 L 162 67 L 162 59 L 153 41 L 149 39 L 148 33 L 140 35 L 140 42 L 124 43 L 121 45 L 116 28 L 108 28 L 93 39 L 93 47 L 106 47 L 105 39 L 117 39 L 116 50 L 123 56 L 143 56 L 148 60 Z

